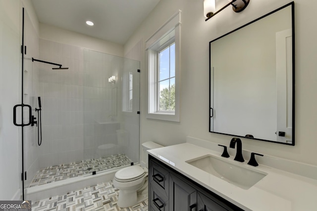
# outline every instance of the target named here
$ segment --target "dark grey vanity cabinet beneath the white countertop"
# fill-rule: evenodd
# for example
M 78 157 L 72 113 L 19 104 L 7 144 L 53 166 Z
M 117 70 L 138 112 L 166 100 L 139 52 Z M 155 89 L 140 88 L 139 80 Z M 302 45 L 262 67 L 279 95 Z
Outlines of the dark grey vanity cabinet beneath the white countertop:
M 149 211 L 242 211 L 149 155 Z

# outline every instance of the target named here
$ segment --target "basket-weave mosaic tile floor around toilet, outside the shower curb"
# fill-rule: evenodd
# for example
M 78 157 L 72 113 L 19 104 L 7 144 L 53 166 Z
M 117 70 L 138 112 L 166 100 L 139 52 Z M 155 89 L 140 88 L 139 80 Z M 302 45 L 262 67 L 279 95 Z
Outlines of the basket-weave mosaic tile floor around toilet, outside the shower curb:
M 129 208 L 117 206 L 119 190 L 104 182 L 32 202 L 32 211 L 148 211 L 148 200 Z

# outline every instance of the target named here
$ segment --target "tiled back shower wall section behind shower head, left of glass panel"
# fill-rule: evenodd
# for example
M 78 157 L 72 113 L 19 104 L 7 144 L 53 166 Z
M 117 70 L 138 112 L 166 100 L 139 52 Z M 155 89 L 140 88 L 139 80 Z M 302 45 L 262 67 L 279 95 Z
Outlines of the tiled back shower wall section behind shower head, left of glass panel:
M 40 39 L 40 59 L 68 67 L 40 64 L 42 145 L 39 167 L 83 160 L 84 74 L 82 47 Z

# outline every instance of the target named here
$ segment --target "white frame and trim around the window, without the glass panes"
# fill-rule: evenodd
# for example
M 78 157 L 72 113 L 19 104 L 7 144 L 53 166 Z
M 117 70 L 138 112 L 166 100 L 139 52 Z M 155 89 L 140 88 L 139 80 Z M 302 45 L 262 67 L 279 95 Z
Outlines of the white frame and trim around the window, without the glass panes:
M 148 119 L 180 122 L 180 26 L 181 11 L 175 13 L 146 41 L 148 66 Z M 175 42 L 175 111 L 159 111 L 159 51 Z

